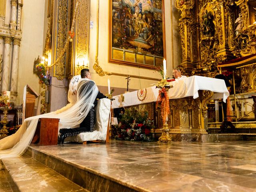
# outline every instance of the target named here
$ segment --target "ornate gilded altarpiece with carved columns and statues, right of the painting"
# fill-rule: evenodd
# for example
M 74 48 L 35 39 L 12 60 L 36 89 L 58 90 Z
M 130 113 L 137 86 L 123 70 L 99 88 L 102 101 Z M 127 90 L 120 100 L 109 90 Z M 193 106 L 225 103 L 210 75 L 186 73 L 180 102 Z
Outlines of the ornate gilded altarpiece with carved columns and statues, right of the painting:
M 256 0 L 176 0 L 175 5 L 180 11 L 180 68 L 187 76 L 214 77 L 218 64 L 256 53 Z M 239 92 L 255 88 L 254 68 L 235 72 Z M 252 75 L 241 76 L 248 72 Z

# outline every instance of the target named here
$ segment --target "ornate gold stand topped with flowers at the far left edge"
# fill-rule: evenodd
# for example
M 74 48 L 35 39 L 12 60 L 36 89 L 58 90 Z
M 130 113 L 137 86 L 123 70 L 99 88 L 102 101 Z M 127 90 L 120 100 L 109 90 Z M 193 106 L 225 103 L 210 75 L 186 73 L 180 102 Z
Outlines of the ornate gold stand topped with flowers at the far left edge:
M 4 113 L 4 118 L 0 121 L 3 127 L 0 129 L 0 139 L 5 138 L 8 134 L 6 125 L 8 124 L 7 113 L 8 110 L 12 109 L 10 102 L 8 102 L 9 97 L 6 95 L 0 96 L 0 110 Z

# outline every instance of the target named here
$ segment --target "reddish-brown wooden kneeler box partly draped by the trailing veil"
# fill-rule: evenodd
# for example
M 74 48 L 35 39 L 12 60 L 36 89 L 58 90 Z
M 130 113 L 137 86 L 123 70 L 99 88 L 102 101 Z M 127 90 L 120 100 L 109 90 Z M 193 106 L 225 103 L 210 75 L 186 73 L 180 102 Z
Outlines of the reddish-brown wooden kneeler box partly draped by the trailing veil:
M 31 143 L 39 145 L 57 145 L 59 121 L 60 119 L 57 118 L 40 118 Z

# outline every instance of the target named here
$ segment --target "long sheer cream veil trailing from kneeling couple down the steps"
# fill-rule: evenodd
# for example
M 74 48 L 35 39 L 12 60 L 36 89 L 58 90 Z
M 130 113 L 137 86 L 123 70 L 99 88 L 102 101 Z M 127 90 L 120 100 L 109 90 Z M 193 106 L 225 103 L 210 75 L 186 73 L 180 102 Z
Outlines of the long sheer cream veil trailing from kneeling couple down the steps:
M 59 118 L 60 128 L 74 128 L 87 116 L 98 94 L 98 87 L 92 80 L 82 78 L 77 84 L 77 101 L 60 110 L 26 118 L 18 131 L 0 140 L 0 159 L 22 155 L 29 146 L 39 118 Z

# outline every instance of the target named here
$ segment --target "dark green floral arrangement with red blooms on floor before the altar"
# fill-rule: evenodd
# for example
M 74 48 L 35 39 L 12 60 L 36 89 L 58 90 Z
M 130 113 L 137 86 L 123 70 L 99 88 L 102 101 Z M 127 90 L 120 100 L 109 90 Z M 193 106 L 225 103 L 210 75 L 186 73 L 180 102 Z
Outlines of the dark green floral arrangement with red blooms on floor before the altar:
M 154 121 L 148 119 L 147 111 L 126 109 L 118 125 L 112 126 L 112 135 L 118 140 L 153 141 L 150 129 Z

